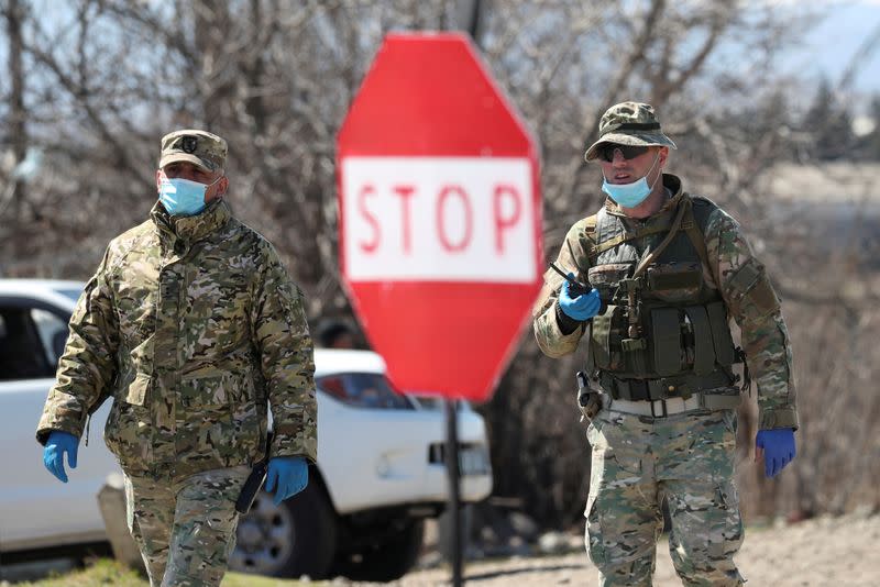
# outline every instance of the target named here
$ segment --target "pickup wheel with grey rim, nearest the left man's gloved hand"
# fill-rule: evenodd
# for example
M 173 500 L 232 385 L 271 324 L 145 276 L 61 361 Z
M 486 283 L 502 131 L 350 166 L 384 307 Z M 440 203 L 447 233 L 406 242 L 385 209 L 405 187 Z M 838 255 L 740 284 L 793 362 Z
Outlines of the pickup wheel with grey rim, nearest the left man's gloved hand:
M 239 519 L 232 571 L 273 577 L 320 579 L 336 553 L 337 519 L 320 484 L 276 506 L 261 491 L 251 511 Z

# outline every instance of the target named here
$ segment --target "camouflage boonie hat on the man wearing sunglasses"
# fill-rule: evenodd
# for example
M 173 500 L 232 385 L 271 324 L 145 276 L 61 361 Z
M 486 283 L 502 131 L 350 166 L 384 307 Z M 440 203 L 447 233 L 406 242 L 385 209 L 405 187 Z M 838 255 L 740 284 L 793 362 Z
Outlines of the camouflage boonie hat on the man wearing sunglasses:
M 641 102 L 620 102 L 605 111 L 598 123 L 598 141 L 586 149 L 584 160 L 595 159 L 603 143 L 678 148 L 660 130 L 653 107 Z

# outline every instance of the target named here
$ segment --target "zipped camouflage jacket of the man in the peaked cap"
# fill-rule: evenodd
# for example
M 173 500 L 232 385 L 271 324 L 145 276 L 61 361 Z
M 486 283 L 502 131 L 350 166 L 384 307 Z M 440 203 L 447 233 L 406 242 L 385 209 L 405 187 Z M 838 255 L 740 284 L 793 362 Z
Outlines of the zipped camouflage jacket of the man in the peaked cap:
M 273 246 L 218 201 L 111 241 L 70 318 L 36 431 L 82 434 L 108 396 L 105 441 L 129 474 L 184 477 L 265 455 L 316 459 L 302 294 Z

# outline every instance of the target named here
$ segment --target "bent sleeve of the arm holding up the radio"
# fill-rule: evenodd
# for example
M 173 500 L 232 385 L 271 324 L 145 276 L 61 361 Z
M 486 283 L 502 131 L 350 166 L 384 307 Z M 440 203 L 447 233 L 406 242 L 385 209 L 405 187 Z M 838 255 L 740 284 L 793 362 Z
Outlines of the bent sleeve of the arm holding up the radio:
M 581 222 L 569 230 L 559 255 L 557 255 L 556 265 L 566 274 L 573 273 L 583 283 L 587 267 L 585 266 L 586 255 L 581 248 L 582 232 Z M 547 269 L 543 274 L 543 287 L 531 311 L 535 340 L 543 354 L 553 358 L 573 353 L 584 333 L 583 325 L 569 334 L 559 328 L 556 307 L 561 287 L 562 276 L 552 268 Z

